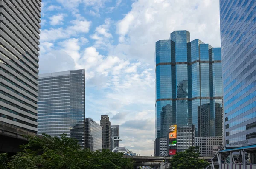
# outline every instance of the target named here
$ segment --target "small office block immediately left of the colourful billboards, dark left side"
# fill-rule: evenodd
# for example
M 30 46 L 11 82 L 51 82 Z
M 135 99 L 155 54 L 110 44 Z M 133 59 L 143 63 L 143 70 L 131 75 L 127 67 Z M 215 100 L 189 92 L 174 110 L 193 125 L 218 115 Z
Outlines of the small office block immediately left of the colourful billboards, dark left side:
M 167 137 L 156 138 L 154 142 L 154 156 L 167 156 Z

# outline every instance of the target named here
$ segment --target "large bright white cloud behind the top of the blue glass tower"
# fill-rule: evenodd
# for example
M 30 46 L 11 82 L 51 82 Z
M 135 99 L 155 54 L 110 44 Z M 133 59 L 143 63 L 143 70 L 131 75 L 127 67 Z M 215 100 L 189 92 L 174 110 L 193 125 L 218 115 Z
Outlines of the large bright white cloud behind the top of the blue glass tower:
M 154 65 L 155 42 L 169 39 L 175 30 L 187 30 L 191 40 L 220 46 L 217 0 L 138 0 L 116 26 L 119 45 L 129 58 Z

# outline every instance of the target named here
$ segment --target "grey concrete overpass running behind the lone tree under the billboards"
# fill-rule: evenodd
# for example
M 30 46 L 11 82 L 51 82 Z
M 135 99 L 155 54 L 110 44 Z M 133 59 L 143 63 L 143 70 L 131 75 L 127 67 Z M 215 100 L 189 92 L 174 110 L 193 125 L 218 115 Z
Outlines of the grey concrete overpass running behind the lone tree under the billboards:
M 160 169 L 165 169 L 168 165 L 168 162 L 172 159 L 172 157 L 151 157 L 151 156 L 128 156 L 124 155 L 123 158 L 130 158 L 135 161 L 134 169 L 136 166 L 158 166 Z M 205 161 L 211 161 L 212 157 L 199 157 L 199 159 L 204 159 Z M 169 168 L 169 167 L 166 167 Z

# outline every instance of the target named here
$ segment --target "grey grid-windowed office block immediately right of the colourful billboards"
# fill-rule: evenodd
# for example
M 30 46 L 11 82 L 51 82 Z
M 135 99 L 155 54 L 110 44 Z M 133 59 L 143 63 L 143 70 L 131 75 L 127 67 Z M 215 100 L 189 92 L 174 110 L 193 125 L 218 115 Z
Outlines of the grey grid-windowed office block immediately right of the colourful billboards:
M 183 152 L 195 146 L 195 126 L 177 127 L 177 152 Z

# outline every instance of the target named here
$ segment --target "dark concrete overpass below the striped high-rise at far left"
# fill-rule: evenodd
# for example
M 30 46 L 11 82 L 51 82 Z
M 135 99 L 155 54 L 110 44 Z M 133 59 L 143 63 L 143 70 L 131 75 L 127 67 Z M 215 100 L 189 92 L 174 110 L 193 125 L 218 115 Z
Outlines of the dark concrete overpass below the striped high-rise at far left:
M 9 155 L 13 155 L 21 151 L 19 146 L 28 143 L 23 135 L 36 134 L 0 121 L 0 153 L 8 152 Z

